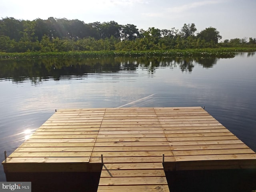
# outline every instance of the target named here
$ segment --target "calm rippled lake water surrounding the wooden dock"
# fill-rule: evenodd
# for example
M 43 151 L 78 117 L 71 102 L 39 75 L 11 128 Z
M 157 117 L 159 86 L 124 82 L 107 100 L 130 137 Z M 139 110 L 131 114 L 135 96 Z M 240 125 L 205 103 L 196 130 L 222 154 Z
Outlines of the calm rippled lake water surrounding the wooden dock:
M 0 161 L 55 109 L 205 106 L 256 151 L 256 55 L 0 61 Z M 2 165 L 0 181 L 5 181 Z

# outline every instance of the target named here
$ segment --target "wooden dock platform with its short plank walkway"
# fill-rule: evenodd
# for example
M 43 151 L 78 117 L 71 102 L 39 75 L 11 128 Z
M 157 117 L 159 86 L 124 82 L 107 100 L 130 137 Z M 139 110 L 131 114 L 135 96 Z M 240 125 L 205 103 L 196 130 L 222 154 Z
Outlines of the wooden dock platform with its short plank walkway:
M 58 110 L 2 164 L 9 181 L 101 172 L 98 192 L 169 192 L 165 171 L 255 169 L 256 153 L 201 107 L 92 108 Z

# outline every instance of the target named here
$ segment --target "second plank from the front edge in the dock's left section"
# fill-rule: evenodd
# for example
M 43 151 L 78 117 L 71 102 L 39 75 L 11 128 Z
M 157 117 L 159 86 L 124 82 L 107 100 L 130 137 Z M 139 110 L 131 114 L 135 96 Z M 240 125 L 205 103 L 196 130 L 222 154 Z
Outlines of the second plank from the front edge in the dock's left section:
M 13 152 L 11 157 L 90 157 L 92 152 Z

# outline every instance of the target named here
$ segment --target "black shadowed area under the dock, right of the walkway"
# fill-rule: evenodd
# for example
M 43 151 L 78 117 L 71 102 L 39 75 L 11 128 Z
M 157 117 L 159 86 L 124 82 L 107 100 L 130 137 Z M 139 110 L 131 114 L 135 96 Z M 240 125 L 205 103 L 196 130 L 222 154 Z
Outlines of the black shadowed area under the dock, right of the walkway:
M 170 192 L 256 190 L 256 169 L 167 171 L 165 174 Z

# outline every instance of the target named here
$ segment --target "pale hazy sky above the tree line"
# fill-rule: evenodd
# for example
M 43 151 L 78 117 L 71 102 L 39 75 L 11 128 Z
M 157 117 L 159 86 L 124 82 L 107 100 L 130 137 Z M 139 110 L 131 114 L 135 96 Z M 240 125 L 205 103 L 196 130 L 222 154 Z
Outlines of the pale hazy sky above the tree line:
M 67 18 L 85 23 L 115 21 L 138 29 L 194 23 L 196 33 L 214 27 L 221 40 L 256 38 L 256 0 L 0 0 L 0 18 Z

